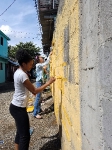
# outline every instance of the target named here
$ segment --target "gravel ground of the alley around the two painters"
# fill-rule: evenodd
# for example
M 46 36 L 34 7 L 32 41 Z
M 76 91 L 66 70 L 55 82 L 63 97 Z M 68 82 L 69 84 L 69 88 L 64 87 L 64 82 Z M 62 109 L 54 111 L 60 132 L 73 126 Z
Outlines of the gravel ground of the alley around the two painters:
M 14 119 L 9 113 L 9 105 L 14 93 L 13 83 L 11 84 L 5 85 L 7 88 L 0 88 L 0 150 L 14 150 L 16 128 Z M 34 129 L 29 150 L 60 150 L 51 93 L 46 92 L 44 97 L 45 103 L 42 105 L 42 109 L 45 110 L 45 113 L 42 115 L 43 119 L 36 119 L 32 113 L 29 113 L 30 126 Z

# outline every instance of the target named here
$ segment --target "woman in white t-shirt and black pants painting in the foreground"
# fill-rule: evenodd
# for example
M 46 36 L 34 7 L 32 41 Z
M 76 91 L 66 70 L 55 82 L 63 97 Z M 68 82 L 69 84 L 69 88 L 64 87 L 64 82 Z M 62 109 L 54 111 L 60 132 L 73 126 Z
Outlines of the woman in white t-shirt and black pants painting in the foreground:
M 53 83 L 55 78 L 51 77 L 44 85 L 36 88 L 30 82 L 27 75 L 27 71 L 31 70 L 34 63 L 32 57 L 25 50 L 19 50 L 16 53 L 16 59 L 18 60 L 19 68 L 14 73 L 15 92 L 9 111 L 15 119 L 17 128 L 15 136 L 15 150 L 28 150 L 30 142 L 30 124 L 26 107 L 29 91 L 36 95 Z

